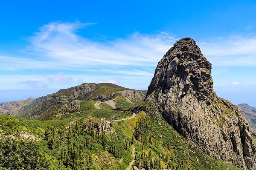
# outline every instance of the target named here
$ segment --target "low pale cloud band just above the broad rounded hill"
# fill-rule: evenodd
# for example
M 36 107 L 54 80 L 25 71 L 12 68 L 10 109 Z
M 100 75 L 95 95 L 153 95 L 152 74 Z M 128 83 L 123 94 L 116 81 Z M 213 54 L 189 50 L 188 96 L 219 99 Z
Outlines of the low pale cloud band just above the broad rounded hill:
M 57 75 L 58 76 L 58 75 Z M 46 87 L 49 89 L 64 89 L 72 86 L 77 86 L 82 83 L 99 83 L 109 82 L 131 89 L 146 89 L 151 81 L 149 76 L 126 75 L 125 77 L 116 77 L 113 75 L 64 75 L 65 78 L 72 78 L 72 81 L 65 83 L 52 82 L 50 78 L 57 77 L 56 75 L 1 75 L 0 89 L 28 89 L 28 87 L 39 88 Z M 41 85 L 40 85 L 41 84 Z

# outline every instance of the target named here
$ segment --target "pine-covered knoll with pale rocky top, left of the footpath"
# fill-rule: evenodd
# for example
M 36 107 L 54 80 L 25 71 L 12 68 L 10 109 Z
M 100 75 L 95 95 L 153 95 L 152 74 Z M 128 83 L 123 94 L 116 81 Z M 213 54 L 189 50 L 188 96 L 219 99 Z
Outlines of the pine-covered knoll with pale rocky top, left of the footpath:
M 108 133 L 111 132 L 104 131 L 97 119 L 81 118 L 68 130 L 50 127 L 45 131 L 45 138 L 40 143 L 43 147 L 42 152 L 58 159 L 58 166 L 63 170 L 115 169 L 113 165 L 95 163 L 95 157 L 101 158 L 104 152 L 112 154 L 112 162 L 124 168 L 126 165 L 120 164 L 117 160 L 121 156 L 131 155 L 131 152 L 124 149 L 122 140 L 114 143 L 114 136 Z

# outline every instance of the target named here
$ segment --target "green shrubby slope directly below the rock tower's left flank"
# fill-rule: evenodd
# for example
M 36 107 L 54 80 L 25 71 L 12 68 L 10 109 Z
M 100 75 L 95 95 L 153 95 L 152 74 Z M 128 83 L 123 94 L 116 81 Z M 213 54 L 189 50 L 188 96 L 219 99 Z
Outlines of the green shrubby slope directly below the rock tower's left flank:
M 163 167 L 168 166 L 167 169 L 175 167 L 181 170 L 239 170 L 238 167 L 215 160 L 192 147 L 192 144 L 179 135 L 151 104 L 145 102 L 140 104 L 139 108 L 151 118 L 150 124 L 154 130 L 154 138 L 149 150 L 153 155 L 163 156 L 160 159 Z

